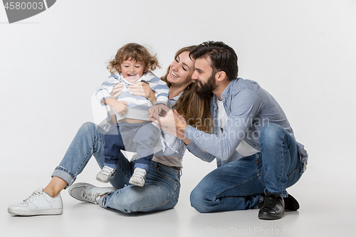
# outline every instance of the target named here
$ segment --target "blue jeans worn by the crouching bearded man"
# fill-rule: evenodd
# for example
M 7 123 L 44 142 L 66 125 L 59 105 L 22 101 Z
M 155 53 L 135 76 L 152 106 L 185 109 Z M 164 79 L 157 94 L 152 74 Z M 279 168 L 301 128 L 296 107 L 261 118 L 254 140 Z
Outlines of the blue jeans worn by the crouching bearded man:
M 267 189 L 286 197 L 303 174 L 293 137 L 275 124 L 263 127 L 261 152 L 214 169 L 194 188 L 190 201 L 199 212 L 256 209 Z

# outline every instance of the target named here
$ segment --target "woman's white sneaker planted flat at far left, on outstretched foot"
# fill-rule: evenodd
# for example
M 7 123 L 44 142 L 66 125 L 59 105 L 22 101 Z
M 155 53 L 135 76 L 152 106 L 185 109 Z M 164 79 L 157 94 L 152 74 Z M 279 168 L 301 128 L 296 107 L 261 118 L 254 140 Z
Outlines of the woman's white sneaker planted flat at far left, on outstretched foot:
M 7 211 L 9 214 L 19 216 L 61 215 L 63 214 L 63 201 L 61 194 L 53 198 L 46 194 L 43 188 L 38 188 L 19 204 L 9 206 Z

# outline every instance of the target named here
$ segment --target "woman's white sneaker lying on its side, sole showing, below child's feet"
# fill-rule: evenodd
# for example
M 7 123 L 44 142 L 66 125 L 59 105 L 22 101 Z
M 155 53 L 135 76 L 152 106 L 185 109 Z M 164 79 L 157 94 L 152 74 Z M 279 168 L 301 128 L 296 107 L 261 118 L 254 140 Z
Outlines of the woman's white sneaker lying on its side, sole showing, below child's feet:
M 94 186 L 93 184 L 87 183 L 73 184 L 68 189 L 69 195 L 73 198 L 79 201 L 88 201 L 92 204 L 99 204 L 98 200 L 100 197 L 112 191 L 116 191 L 116 189 L 112 186 L 100 188 Z

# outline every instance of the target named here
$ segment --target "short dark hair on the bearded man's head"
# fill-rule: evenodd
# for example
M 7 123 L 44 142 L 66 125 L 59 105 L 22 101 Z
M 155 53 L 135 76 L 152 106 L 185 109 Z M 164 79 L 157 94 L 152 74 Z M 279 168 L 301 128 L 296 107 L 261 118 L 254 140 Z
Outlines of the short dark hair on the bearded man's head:
M 193 59 L 209 58 L 213 73 L 223 70 L 229 80 L 237 78 L 239 73 L 237 55 L 234 49 L 224 42 L 206 41 L 190 51 L 189 56 Z

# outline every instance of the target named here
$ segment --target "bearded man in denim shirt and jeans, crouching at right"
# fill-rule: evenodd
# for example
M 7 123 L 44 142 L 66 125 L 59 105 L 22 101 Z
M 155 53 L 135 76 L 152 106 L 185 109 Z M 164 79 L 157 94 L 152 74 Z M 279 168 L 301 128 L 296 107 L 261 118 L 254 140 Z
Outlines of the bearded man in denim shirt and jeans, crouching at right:
M 216 159 L 218 168 L 192 191 L 194 209 L 213 212 L 261 207 L 261 219 L 278 219 L 285 209 L 297 210 L 298 202 L 286 189 L 300 179 L 308 154 L 295 141 L 278 102 L 258 83 L 237 78 L 236 53 L 225 43 L 201 43 L 190 56 L 195 60 L 192 79 L 197 94 L 211 97 L 212 134 L 187 125 L 177 111 L 152 116 L 162 126 L 184 133 L 192 154 L 206 162 Z

